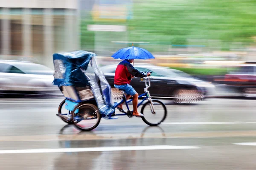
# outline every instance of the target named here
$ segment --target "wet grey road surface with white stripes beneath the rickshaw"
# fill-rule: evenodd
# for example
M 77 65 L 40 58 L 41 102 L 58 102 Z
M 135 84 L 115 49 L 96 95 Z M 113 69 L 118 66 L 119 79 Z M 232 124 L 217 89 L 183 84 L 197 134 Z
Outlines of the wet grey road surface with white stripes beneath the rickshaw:
M 158 127 L 119 116 L 90 132 L 55 116 L 61 100 L 1 100 L 1 170 L 256 169 L 255 100 L 167 105 Z

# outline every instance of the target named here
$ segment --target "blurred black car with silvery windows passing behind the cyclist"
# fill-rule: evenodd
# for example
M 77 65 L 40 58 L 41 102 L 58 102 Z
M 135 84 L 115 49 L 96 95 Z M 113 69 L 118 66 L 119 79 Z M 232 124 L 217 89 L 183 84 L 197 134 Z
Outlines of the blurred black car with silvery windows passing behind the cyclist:
M 101 67 L 106 79 L 114 88 L 114 76 L 117 65 Z M 182 71 L 154 65 L 135 65 L 141 72 L 151 71 L 150 94 L 153 98 L 174 99 L 176 103 L 199 101 L 215 87 L 210 82 L 196 79 Z M 145 83 L 134 77 L 131 85 L 138 94 L 144 93 Z

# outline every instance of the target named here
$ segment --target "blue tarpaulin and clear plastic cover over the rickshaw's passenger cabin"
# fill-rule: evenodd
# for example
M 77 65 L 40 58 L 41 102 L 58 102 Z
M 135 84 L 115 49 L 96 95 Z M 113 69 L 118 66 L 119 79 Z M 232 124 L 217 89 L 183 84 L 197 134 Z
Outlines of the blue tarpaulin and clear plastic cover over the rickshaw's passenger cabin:
M 90 86 L 99 111 L 106 116 L 114 113 L 111 86 L 96 62 L 96 54 L 73 51 L 53 54 L 54 85 Z

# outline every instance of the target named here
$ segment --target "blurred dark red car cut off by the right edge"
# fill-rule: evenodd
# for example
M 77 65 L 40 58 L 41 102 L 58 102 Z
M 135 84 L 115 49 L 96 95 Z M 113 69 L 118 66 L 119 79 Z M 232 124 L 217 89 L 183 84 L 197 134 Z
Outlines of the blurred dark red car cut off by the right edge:
M 256 97 L 256 64 L 237 65 L 237 71 L 232 71 L 224 77 L 226 87 L 245 97 Z

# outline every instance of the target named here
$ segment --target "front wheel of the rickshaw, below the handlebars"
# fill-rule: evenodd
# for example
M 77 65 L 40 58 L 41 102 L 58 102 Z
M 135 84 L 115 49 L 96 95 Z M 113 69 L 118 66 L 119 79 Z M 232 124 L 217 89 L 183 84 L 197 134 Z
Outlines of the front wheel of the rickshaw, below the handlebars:
M 152 102 L 153 107 L 150 101 L 142 106 L 140 112 L 144 114 L 144 117 L 141 118 L 147 125 L 157 126 L 166 119 L 167 109 L 163 102 L 159 100 L 152 100 Z M 154 108 L 154 111 L 152 111 L 152 108 Z

